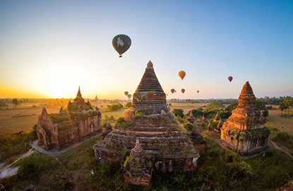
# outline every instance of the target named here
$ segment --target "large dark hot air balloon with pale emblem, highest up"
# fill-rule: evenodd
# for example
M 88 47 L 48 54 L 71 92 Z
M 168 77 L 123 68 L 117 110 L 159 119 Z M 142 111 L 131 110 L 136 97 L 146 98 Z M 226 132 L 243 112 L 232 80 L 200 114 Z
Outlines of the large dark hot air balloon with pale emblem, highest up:
M 131 39 L 128 35 L 116 35 L 112 40 L 114 50 L 119 53 L 119 57 L 131 46 Z

